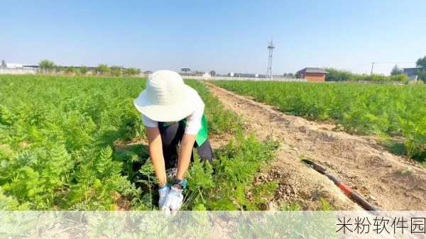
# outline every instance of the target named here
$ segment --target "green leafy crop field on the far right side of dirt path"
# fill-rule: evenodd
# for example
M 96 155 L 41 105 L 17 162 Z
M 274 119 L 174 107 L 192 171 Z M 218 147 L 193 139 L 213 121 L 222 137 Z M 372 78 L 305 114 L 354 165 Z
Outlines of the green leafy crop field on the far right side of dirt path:
M 392 152 L 426 158 L 426 87 L 378 84 L 214 81 L 286 114 L 334 121 L 346 132 L 378 135 Z

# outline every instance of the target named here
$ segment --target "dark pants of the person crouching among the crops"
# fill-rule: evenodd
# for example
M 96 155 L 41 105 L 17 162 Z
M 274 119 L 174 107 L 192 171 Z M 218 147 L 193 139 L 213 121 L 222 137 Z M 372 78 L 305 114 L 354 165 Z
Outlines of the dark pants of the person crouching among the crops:
M 185 126 L 180 123 L 173 123 L 170 126 L 163 126 L 163 123 L 158 123 L 160 130 L 161 141 L 163 143 L 163 155 L 165 161 L 165 169 L 172 167 L 178 167 L 178 143 L 182 140 L 183 134 L 185 133 Z M 197 148 L 200 160 L 213 160 L 212 145 L 209 140 L 204 141 L 202 145 L 194 144 L 194 148 Z M 194 161 L 193 155 L 191 155 L 191 162 Z

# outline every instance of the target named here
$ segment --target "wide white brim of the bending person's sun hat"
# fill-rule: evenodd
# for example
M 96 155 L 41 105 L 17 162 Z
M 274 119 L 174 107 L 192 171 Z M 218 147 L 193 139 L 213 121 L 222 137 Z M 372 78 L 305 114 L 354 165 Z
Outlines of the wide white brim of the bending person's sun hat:
M 180 101 L 175 101 L 170 105 L 158 105 L 150 103 L 146 96 L 146 90 L 143 90 L 138 98 L 133 101 L 133 104 L 139 112 L 153 121 L 180 121 L 195 111 L 195 102 L 199 97 L 197 91 L 186 84 L 183 91 L 184 97 Z

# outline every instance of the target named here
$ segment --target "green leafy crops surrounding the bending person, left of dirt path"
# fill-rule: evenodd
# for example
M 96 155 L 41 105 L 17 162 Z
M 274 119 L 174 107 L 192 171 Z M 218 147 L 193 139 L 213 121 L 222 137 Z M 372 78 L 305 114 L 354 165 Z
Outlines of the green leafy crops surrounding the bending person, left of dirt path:
M 156 208 L 158 194 L 141 115 L 145 79 L 0 76 L 0 210 Z M 212 165 L 188 173 L 186 210 L 258 210 L 277 187 L 253 185 L 274 158 L 273 140 L 241 133 L 241 119 L 188 80 L 206 104 L 211 135 L 231 135 Z M 246 193 L 251 192 L 251 199 Z

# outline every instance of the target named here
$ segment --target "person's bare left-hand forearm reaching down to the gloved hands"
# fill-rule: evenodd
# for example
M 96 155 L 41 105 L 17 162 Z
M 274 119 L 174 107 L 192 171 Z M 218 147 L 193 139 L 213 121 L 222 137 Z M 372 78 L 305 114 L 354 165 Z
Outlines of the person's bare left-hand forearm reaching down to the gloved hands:
M 149 155 L 153 162 L 155 176 L 158 179 L 158 186 L 162 187 L 167 183 L 165 176 L 165 165 L 163 156 L 163 143 L 161 143 L 160 130 L 158 128 L 145 127 L 148 135 Z

